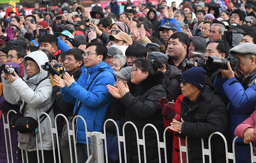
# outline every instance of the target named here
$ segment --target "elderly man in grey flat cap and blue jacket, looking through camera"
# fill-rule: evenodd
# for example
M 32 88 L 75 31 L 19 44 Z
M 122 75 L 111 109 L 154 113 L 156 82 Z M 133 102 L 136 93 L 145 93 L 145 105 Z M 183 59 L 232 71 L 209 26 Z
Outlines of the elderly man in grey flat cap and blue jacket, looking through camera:
M 238 67 L 232 70 L 228 63 L 228 69 L 221 69 L 213 86 L 218 94 L 229 104 L 232 139 L 235 128 L 248 118 L 255 110 L 256 104 L 256 45 L 244 43 L 230 49 L 230 54 L 238 58 Z M 235 143 L 236 162 L 251 162 L 250 145 L 244 144 L 242 138 Z

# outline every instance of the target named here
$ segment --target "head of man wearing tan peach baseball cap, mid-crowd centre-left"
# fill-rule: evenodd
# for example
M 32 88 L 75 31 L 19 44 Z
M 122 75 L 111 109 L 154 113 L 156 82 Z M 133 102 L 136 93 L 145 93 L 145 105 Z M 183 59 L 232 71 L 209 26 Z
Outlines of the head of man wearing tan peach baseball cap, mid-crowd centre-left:
M 112 44 L 117 44 L 119 46 L 129 46 L 132 44 L 131 37 L 127 33 L 122 31 L 120 31 L 117 35 L 109 35 L 109 39 L 113 42 Z

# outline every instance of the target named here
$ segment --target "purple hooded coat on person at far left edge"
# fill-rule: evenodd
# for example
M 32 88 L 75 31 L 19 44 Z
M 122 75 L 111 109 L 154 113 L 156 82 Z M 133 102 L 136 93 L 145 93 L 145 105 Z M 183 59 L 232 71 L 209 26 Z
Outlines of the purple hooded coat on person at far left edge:
M 16 63 L 6 63 L 3 64 L 0 68 L 0 72 L 2 72 L 3 66 L 10 66 L 12 67 L 18 67 L 18 72 L 20 74 L 20 67 Z M 0 79 L 0 81 L 2 81 Z M 14 114 L 11 112 L 9 114 L 9 117 L 7 118 L 7 113 L 9 110 L 15 110 L 17 113 L 19 112 L 19 105 L 12 105 L 9 102 L 7 102 L 4 99 L 3 93 L 1 94 L 0 97 L 0 110 L 2 110 L 3 116 L 4 116 L 4 122 L 7 124 L 7 119 L 9 118 L 9 122 L 11 122 L 11 117 Z M 1 115 L 0 115 L 1 116 Z M 0 118 L 0 162 L 1 163 L 7 163 L 7 155 L 6 155 L 6 144 L 5 144 L 5 136 L 4 136 L 4 128 L 3 128 L 3 117 L 1 116 Z M 17 134 L 18 131 L 10 127 L 10 131 L 6 132 L 6 140 L 8 142 L 8 152 L 9 152 L 9 160 L 11 162 L 11 148 L 10 148 L 10 140 L 9 140 L 9 134 L 11 135 L 11 141 L 12 141 L 12 152 L 13 152 L 13 162 L 14 163 L 22 163 L 22 156 L 21 156 L 21 150 L 18 148 L 18 141 L 17 141 Z

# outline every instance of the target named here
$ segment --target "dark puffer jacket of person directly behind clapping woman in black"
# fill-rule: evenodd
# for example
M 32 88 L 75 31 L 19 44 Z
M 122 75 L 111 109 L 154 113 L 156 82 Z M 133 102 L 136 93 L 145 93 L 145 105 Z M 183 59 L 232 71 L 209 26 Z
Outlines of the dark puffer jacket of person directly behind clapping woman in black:
M 165 71 L 165 91 L 168 101 L 176 101 L 177 97 L 181 95 L 180 79 L 182 72 L 176 66 L 166 65 Z

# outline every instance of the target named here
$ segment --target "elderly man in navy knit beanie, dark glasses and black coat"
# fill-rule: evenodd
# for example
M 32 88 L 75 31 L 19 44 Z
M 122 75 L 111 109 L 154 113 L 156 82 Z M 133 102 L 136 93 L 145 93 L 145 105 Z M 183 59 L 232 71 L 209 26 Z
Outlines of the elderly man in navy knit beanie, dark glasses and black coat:
M 181 102 L 179 121 L 173 119 L 171 130 L 181 138 L 188 136 L 186 144 L 189 162 L 202 162 L 201 138 L 208 146 L 208 137 L 213 132 L 221 132 L 230 141 L 227 108 L 217 91 L 205 84 L 206 71 L 192 67 L 183 73 L 180 86 L 184 96 Z M 226 162 L 225 144 L 220 136 L 211 138 L 212 162 Z M 209 160 L 206 158 L 206 162 Z

